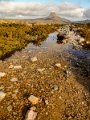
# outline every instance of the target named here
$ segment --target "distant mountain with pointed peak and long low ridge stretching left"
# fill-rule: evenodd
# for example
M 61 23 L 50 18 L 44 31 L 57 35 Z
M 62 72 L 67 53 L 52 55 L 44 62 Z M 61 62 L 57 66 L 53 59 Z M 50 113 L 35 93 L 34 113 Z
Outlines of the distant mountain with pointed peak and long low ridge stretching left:
M 1 19 L 0 23 L 18 23 L 18 24 L 68 24 L 68 19 L 59 17 L 55 12 L 51 12 L 47 17 L 37 19 Z

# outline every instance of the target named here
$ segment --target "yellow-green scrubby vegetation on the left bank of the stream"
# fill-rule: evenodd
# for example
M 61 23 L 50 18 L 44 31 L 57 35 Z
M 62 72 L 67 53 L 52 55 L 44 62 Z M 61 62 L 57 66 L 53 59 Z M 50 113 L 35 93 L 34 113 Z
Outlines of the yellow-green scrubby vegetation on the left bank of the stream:
M 21 50 L 29 42 L 40 44 L 49 33 L 56 31 L 59 25 L 22 25 L 15 23 L 0 24 L 0 59 Z

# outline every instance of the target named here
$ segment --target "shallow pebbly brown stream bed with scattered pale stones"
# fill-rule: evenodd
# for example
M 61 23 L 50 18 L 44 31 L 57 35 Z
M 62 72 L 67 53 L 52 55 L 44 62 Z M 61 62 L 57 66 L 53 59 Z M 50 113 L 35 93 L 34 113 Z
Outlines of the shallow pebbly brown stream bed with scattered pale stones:
M 90 119 L 90 51 L 58 31 L 0 61 L 0 120 Z

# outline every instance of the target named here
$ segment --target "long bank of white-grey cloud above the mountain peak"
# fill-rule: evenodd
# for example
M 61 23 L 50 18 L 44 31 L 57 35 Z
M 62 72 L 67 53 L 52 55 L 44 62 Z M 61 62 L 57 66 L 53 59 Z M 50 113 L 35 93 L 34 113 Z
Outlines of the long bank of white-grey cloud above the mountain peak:
M 4 18 L 37 18 L 45 17 L 50 12 L 70 18 L 82 18 L 85 9 L 72 3 L 39 3 L 39 2 L 0 2 L 0 16 Z M 86 13 L 85 13 L 86 14 Z

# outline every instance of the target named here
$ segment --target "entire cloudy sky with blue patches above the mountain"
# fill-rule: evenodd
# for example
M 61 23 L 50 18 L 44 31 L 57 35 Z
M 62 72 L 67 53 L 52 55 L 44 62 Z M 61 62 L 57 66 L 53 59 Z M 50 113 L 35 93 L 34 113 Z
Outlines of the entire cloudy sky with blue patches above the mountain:
M 0 18 L 35 19 L 51 12 L 73 21 L 90 19 L 90 0 L 0 0 Z

